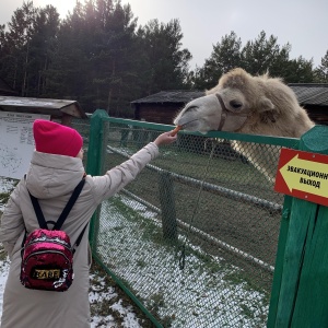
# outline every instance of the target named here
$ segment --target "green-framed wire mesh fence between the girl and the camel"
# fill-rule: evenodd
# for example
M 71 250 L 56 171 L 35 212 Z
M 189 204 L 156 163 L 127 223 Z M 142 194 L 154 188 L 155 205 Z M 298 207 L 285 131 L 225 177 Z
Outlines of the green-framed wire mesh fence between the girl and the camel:
M 87 173 L 103 174 L 172 126 L 83 125 Z M 298 139 L 179 132 L 91 226 L 94 257 L 156 327 L 266 327 L 283 207 L 281 147 Z M 239 150 L 239 151 L 236 151 Z

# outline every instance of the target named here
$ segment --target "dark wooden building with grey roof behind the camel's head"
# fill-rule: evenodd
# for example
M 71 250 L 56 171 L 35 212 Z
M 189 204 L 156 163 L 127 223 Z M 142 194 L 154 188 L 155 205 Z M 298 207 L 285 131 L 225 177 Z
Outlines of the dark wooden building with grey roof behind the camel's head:
M 298 103 L 318 125 L 328 125 L 328 84 L 293 83 Z M 134 119 L 173 125 L 177 113 L 190 101 L 204 95 L 203 91 L 161 91 L 131 103 Z

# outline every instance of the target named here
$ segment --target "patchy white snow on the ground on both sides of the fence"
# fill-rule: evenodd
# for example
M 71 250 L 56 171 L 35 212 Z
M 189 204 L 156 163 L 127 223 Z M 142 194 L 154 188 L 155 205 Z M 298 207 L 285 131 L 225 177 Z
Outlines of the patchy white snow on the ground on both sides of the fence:
M 12 187 L 13 181 L 0 178 L 0 206 L 1 192 Z M 118 208 L 117 201 L 120 203 Z M 122 203 L 133 211 L 125 213 Z M 108 213 L 110 220 L 106 219 Z M 268 312 L 266 295 L 249 288 L 246 281 L 231 283 L 229 280 L 230 276 L 238 274 L 241 269 L 223 266 L 218 258 L 214 259 L 216 269 L 213 270 L 214 267 L 204 265 L 201 249 L 189 245 L 195 251 L 187 258 L 188 269 L 179 270 L 172 251 L 142 236 L 141 225 L 145 221 L 149 221 L 147 224 L 152 223 L 150 235 L 154 235 L 159 229 L 154 215 L 139 202 L 116 196 L 103 203 L 99 223 L 98 253 L 108 268 L 115 267 L 115 274 L 138 291 L 138 296 L 145 300 L 147 307 L 156 306 L 156 313 L 162 318 L 174 317 L 172 327 L 194 328 L 195 324 L 207 328 L 265 327 Z M 0 260 L 0 315 L 8 269 L 8 260 Z M 133 309 L 131 303 L 122 300 L 122 294 L 117 294 L 117 288 L 106 283 L 106 273 L 95 272 L 91 274 L 90 289 L 92 328 L 151 327 L 142 324 L 142 319 L 136 315 L 136 307 Z M 235 321 L 234 326 L 232 321 Z

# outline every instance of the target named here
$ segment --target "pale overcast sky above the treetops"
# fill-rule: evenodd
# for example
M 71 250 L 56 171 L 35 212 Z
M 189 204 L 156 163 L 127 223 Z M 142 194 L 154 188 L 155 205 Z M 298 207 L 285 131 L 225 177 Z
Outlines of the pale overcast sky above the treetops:
M 83 3 L 84 0 L 81 0 Z M 63 19 L 75 0 L 34 0 L 35 7 L 51 3 Z M 130 3 L 138 23 L 178 19 L 183 47 L 194 59 L 190 68 L 202 67 L 213 45 L 232 31 L 242 39 L 254 40 L 261 31 L 278 37 L 280 46 L 290 43 L 290 58 L 313 58 L 320 65 L 328 50 L 328 0 L 121 0 Z M 0 24 L 7 24 L 23 0 L 0 0 Z

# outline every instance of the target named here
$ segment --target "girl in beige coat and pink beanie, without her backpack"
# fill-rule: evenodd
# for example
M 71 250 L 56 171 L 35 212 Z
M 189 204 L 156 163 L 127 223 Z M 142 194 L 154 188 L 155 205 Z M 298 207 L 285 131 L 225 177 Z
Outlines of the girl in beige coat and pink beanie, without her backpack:
M 0 242 L 11 265 L 7 280 L 2 328 L 87 328 L 89 304 L 89 225 L 74 254 L 74 280 L 66 292 L 31 290 L 20 282 L 21 247 L 25 234 L 38 229 L 28 191 L 38 199 L 47 221 L 57 221 L 73 189 L 84 175 L 83 140 L 69 127 L 48 120 L 33 125 L 36 150 L 26 176 L 19 183 L 1 219 Z M 96 207 L 134 179 L 140 171 L 159 155 L 159 147 L 176 140 L 164 132 L 133 154 L 128 161 L 109 169 L 104 176 L 85 177 L 85 184 L 62 230 L 73 245 L 89 223 Z

